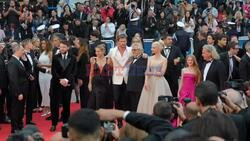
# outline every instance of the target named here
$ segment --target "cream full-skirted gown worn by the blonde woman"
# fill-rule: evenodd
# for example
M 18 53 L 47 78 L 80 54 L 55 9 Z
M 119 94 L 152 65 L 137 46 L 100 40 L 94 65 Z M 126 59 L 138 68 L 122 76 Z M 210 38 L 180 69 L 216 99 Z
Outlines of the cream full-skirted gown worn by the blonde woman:
M 162 65 L 150 67 L 150 69 L 161 70 Z M 157 70 L 156 70 L 157 71 Z M 143 87 L 137 112 L 153 114 L 154 105 L 158 102 L 159 96 L 172 96 L 169 84 L 164 76 L 149 76 L 148 78 L 149 90 Z

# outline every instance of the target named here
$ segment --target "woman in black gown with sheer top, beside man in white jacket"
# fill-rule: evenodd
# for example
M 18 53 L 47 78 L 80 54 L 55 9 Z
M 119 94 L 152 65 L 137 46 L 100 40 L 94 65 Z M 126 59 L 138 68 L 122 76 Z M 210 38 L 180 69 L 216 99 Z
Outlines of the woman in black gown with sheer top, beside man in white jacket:
M 105 57 L 104 45 L 98 45 L 95 48 L 96 57 L 90 59 L 90 77 L 88 88 L 91 92 L 89 100 L 89 108 L 112 108 L 112 95 L 111 90 L 111 72 L 112 63 L 111 59 Z

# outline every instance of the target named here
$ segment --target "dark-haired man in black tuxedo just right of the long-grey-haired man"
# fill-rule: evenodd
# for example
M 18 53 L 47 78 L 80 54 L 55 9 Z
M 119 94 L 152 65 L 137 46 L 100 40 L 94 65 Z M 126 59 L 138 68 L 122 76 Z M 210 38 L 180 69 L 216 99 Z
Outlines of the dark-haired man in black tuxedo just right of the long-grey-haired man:
M 226 68 L 227 80 L 239 79 L 239 63 L 235 56 L 239 52 L 240 46 L 235 42 L 229 42 L 228 52 L 220 54 L 220 60 Z

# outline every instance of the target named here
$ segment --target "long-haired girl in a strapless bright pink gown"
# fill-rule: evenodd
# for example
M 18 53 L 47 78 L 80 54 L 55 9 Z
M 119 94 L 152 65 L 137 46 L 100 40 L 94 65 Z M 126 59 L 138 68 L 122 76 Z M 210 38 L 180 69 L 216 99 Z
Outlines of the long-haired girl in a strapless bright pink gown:
M 179 89 L 179 102 L 185 104 L 184 99 L 189 98 L 195 101 L 195 87 L 201 81 L 201 72 L 195 56 L 187 56 L 187 67 L 182 69 L 181 83 Z

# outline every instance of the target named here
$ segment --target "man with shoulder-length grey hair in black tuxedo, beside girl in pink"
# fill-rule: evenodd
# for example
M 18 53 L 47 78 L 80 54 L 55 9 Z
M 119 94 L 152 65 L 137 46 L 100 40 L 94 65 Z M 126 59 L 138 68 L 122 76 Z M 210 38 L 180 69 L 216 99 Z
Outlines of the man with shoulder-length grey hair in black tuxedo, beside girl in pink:
M 214 46 L 203 46 L 202 56 L 206 61 L 202 67 L 203 81 L 212 81 L 219 90 L 223 90 L 227 80 L 226 69 L 225 65 L 219 60 L 219 55 Z

